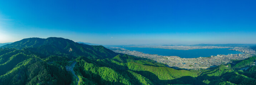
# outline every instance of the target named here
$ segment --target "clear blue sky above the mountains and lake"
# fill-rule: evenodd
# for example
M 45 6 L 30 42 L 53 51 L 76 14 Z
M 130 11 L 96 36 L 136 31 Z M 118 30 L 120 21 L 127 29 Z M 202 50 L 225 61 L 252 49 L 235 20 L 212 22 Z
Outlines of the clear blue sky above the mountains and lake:
M 0 43 L 256 43 L 256 0 L 1 0 Z

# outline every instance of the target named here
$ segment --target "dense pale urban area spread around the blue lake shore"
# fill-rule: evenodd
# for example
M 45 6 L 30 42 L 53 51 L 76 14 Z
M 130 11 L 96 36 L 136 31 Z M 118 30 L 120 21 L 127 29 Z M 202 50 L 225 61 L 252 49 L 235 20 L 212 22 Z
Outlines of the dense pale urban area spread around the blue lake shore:
M 142 46 L 140 46 L 142 47 Z M 147 46 L 144 46 L 147 47 Z M 151 46 L 152 47 L 152 46 Z M 162 48 L 164 46 L 161 46 Z M 181 48 L 178 48 L 181 47 Z M 245 58 L 251 57 L 255 55 L 255 51 L 250 49 L 249 47 L 233 47 L 229 50 L 240 51 L 242 53 L 239 54 L 228 54 L 228 55 L 212 55 L 209 57 L 198 57 L 198 58 L 180 58 L 178 56 L 160 56 L 156 54 L 146 54 L 138 51 L 130 51 L 123 49 L 122 47 L 108 47 L 110 50 L 118 53 L 124 53 L 133 56 L 139 56 L 144 58 L 149 58 L 154 61 L 164 63 L 169 67 L 176 69 L 207 69 L 209 67 L 215 67 L 221 64 L 232 63 L 233 60 L 243 60 Z M 157 48 L 157 46 L 155 47 Z M 166 46 L 165 48 L 172 49 L 213 49 L 213 48 L 230 48 L 230 47 L 219 47 L 219 46 Z

